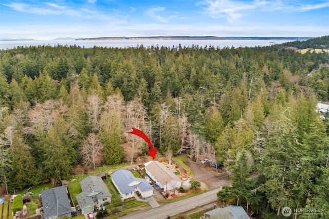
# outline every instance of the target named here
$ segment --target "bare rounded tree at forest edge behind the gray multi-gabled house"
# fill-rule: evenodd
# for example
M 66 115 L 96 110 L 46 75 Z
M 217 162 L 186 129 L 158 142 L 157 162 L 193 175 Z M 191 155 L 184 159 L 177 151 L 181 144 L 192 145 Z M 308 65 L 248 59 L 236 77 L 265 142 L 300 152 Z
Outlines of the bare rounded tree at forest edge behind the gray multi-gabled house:
M 83 164 L 93 169 L 103 161 L 102 149 L 103 144 L 99 141 L 95 133 L 89 133 L 87 139 L 82 143 L 80 155 Z

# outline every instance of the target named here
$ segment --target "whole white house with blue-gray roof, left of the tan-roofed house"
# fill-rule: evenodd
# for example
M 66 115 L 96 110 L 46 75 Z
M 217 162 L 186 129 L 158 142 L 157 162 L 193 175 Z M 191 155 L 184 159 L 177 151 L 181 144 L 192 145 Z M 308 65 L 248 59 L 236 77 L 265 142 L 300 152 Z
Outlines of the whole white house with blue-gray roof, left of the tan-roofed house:
M 138 191 L 143 198 L 153 195 L 153 187 L 143 178 L 135 177 L 128 170 L 118 170 L 111 175 L 112 182 L 121 194 L 122 201 L 134 197 Z

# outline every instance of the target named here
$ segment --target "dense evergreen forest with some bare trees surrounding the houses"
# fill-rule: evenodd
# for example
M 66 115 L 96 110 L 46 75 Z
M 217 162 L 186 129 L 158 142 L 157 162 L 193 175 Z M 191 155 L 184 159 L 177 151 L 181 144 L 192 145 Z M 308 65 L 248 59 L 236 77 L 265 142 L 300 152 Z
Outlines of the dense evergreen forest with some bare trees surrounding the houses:
M 329 218 L 329 36 L 266 47 L 0 51 L 0 182 L 53 185 L 103 164 L 181 153 L 223 163 L 223 203 L 279 218 L 284 206 Z M 303 216 L 303 217 L 302 217 Z M 307 215 L 306 215 L 307 216 Z M 301 215 L 300 218 L 306 218 Z M 312 217 L 314 218 L 314 217 Z

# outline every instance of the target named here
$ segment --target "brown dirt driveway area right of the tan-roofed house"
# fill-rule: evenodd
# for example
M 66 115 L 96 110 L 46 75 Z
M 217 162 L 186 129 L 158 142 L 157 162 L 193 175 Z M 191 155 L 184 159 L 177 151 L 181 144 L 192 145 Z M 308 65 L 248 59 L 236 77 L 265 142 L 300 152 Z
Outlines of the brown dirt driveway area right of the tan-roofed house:
M 194 173 L 194 177 L 191 180 L 204 182 L 208 185 L 209 189 L 217 189 L 221 186 L 231 184 L 226 173 L 216 173 L 213 168 L 205 167 L 203 164 L 197 164 L 195 162 L 190 162 L 187 165 Z

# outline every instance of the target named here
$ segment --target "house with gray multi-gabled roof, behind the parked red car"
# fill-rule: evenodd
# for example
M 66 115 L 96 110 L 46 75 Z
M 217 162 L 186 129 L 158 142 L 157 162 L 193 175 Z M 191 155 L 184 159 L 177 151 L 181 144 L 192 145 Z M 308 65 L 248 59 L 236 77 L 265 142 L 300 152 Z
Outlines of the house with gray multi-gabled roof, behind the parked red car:
M 112 195 L 101 177 L 88 176 L 80 181 L 80 186 L 82 192 L 76 197 L 82 214 L 93 212 L 105 202 L 111 203 Z

